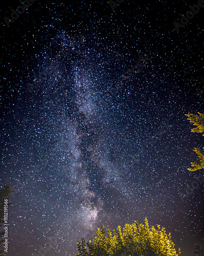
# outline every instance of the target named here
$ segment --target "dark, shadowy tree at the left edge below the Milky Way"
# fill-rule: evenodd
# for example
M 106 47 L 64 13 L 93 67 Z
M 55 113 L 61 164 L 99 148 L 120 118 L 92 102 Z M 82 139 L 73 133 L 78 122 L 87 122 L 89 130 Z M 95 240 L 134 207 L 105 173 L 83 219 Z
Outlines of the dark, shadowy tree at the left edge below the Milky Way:
M 7 206 L 12 204 L 12 203 L 9 203 L 9 198 L 10 198 L 9 194 L 11 194 L 12 192 L 13 190 L 12 190 L 12 187 L 10 187 L 10 182 L 7 185 L 4 185 L 4 188 L 0 190 L 0 227 L 5 221 L 5 212 L 8 213 L 8 211 L 7 210 L 5 211 L 5 209 L 7 209 Z M 4 235 L 5 235 L 5 231 L 0 232 L 1 239 L 4 238 Z M 4 239 L 0 240 L 0 244 L 2 244 L 3 242 L 5 242 Z M 0 250 L 0 255 L 2 255 L 4 252 L 5 252 L 4 250 Z

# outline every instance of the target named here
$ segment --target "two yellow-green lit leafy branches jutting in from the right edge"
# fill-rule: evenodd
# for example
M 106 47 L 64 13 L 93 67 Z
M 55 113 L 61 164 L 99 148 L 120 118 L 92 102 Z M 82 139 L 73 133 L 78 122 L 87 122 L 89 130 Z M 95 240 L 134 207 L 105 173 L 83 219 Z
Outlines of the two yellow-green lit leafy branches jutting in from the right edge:
M 185 115 L 189 117 L 187 119 L 190 120 L 190 122 L 194 123 L 193 125 L 197 125 L 196 128 L 191 130 L 192 133 L 204 133 L 204 114 L 200 114 L 199 112 L 198 114 L 200 116 L 189 113 L 188 115 Z M 202 134 L 202 136 L 204 136 L 204 134 Z M 202 148 L 202 150 L 204 150 L 204 147 Z M 204 152 L 196 147 L 194 147 L 193 151 L 197 153 L 198 159 L 196 160 L 196 162 L 191 162 L 192 168 L 188 168 L 188 170 L 191 170 L 191 172 L 204 168 Z

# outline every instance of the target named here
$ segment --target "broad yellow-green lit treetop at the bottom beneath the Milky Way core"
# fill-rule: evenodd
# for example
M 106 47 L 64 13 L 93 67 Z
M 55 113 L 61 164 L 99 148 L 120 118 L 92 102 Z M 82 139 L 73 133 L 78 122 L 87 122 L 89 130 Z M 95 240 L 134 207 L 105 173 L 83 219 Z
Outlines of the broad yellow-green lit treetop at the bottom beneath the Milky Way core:
M 77 242 L 79 254 L 77 256 L 177 256 L 181 253 L 180 248 L 174 249 L 174 244 L 170 240 L 170 233 L 166 234 L 165 229 L 160 225 L 157 228 L 149 228 L 145 218 L 144 224 L 125 224 L 121 230 L 110 229 L 105 234 L 105 227 L 97 228 L 96 237 L 93 242 L 85 243 L 82 238 Z

